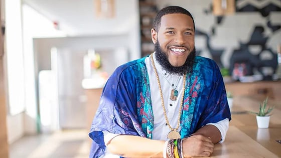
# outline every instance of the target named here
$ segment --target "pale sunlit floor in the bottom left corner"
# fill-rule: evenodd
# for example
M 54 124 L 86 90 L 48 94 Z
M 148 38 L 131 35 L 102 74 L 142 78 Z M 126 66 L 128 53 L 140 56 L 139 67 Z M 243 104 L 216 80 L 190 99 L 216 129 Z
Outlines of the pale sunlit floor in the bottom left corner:
M 10 158 L 88 158 L 90 141 L 84 129 L 24 136 L 10 145 Z

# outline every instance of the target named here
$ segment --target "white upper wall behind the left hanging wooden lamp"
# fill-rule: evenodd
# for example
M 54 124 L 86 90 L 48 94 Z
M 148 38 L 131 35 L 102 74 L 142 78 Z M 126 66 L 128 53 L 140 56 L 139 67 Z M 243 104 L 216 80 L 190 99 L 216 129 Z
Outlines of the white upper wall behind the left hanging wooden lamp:
M 138 21 L 138 1 L 114 0 L 115 17 L 96 17 L 94 0 L 23 0 L 50 21 L 58 22 L 68 36 L 124 34 Z M 135 19 L 136 18 L 136 19 Z M 137 28 L 135 28 L 137 29 Z

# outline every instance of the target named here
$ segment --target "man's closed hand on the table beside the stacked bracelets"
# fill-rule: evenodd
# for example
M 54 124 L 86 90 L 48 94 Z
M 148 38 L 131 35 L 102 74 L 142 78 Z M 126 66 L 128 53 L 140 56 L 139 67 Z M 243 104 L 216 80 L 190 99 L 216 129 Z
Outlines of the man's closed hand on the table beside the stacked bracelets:
M 201 134 L 183 139 L 184 157 L 210 156 L 214 151 L 212 140 Z

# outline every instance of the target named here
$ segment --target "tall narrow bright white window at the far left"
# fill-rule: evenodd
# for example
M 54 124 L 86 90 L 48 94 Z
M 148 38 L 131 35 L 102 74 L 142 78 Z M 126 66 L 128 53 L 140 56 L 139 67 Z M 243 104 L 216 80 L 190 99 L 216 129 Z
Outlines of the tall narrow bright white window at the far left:
M 21 21 L 21 0 L 5 2 L 5 52 L 7 54 L 8 141 L 24 134 L 25 110 L 24 59 Z

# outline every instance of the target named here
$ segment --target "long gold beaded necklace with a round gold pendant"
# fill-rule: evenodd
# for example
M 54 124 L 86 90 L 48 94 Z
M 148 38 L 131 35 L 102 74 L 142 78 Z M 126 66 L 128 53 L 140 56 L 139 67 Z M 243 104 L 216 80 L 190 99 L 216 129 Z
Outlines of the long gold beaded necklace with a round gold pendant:
M 178 122 L 177 122 L 177 127 L 176 128 L 172 128 L 170 123 L 169 123 L 169 120 L 168 120 L 168 117 L 167 117 L 167 113 L 166 113 L 166 109 L 165 109 L 165 105 L 164 105 L 164 98 L 163 98 L 163 93 L 162 93 L 162 89 L 161 89 L 161 85 L 160 85 L 160 80 L 159 80 L 159 76 L 158 76 L 158 73 L 157 73 L 157 70 L 156 70 L 156 67 L 155 67 L 155 64 L 154 64 L 154 60 L 153 60 L 153 54 L 151 54 L 151 61 L 152 61 L 152 66 L 153 66 L 153 69 L 154 69 L 154 72 L 155 72 L 155 75 L 156 75 L 156 78 L 157 78 L 157 83 L 158 83 L 158 87 L 159 87 L 159 90 L 160 90 L 160 96 L 161 96 L 161 103 L 162 103 L 162 108 L 164 110 L 164 116 L 165 116 L 165 120 L 167 122 L 167 125 L 168 127 L 171 129 L 171 131 L 168 133 L 168 138 L 169 139 L 178 139 L 178 138 L 181 138 L 181 134 L 179 131 L 177 131 L 180 127 L 180 120 L 181 120 L 181 115 L 182 115 L 182 107 L 183 107 L 183 100 L 184 100 L 184 92 L 185 92 L 185 82 L 186 82 L 186 74 L 184 74 L 184 82 L 183 82 L 183 92 L 182 92 L 182 98 L 181 98 L 181 106 L 180 106 L 180 110 L 179 110 L 179 116 L 178 116 Z

